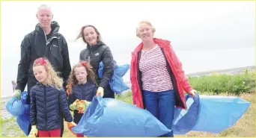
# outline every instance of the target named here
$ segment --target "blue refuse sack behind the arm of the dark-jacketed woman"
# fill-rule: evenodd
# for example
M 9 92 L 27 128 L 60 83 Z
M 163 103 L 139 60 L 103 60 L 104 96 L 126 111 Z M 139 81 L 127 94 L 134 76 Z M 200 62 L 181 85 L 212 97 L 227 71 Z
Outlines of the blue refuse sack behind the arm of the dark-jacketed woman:
M 109 85 L 116 94 L 124 92 L 125 90 L 129 90 L 129 87 L 124 83 L 122 78 L 128 70 L 129 64 L 118 65 L 114 60 L 114 75 L 109 80 Z M 100 78 L 103 77 L 103 61 L 101 61 L 99 64 L 98 74 Z

